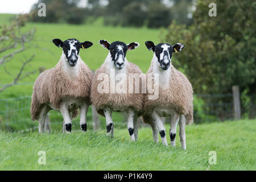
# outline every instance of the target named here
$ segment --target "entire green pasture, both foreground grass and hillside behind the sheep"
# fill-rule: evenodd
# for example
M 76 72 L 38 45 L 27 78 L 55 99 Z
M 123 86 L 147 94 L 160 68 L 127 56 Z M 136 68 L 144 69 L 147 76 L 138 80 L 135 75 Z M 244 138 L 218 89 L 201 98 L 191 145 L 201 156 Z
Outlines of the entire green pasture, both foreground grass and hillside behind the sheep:
M 13 15 L 0 14 L 0 24 L 8 23 Z M 159 29 L 125 28 L 103 26 L 101 19 L 93 24 L 43 24 L 27 23 L 24 30 L 36 28 L 33 44 L 14 60 L 6 64 L 11 73 L 20 68 L 20 61 L 35 54 L 34 60 L 25 72 L 38 67 L 52 68 L 59 61 L 61 48 L 52 39 L 76 38 L 81 42 L 93 42 L 93 46 L 80 51 L 82 60 L 90 69 L 96 70 L 104 62 L 108 51 L 98 44 L 98 40 L 109 42 L 120 40 L 125 43 L 138 42 L 137 49 L 127 52 L 127 60 L 137 64 L 145 73 L 150 66 L 152 52 L 144 42 L 158 43 Z M 1 57 L 2 55 L 0 55 Z M 175 56 L 172 59 L 175 65 Z M 0 83 L 7 84 L 11 77 L 0 68 Z M 36 73 L 23 82 L 34 82 Z M 32 84 L 16 85 L 0 93 L 0 99 L 31 96 Z M 0 108 L 5 106 L 0 106 Z M 28 114 L 28 113 L 27 113 Z M 1 116 L 0 116 L 1 117 Z M 92 113 L 88 112 L 88 132 L 81 133 L 78 119 L 73 121 L 71 134 L 60 133 L 62 119 L 56 119 L 51 134 L 5 133 L 0 131 L 0 170 L 255 170 L 256 120 L 225 121 L 204 123 L 186 127 L 187 150 L 180 148 L 179 136 L 176 148 L 153 142 L 149 127 L 139 129 L 139 141 L 130 142 L 123 115 L 114 114 L 113 139 L 106 137 L 105 119 L 101 118 L 101 130 L 92 131 Z M 1 121 L 1 118 L 0 118 Z M 31 125 L 38 125 L 33 123 Z M 33 124 L 32 124 L 33 123 Z M 19 123 L 21 127 L 22 123 Z M 170 125 L 166 125 L 166 131 Z M 179 133 L 179 131 L 177 131 Z M 159 137 L 160 138 L 160 137 Z M 170 145 L 170 137 L 167 136 Z M 46 165 L 38 164 L 38 152 L 46 152 Z M 217 164 L 209 165 L 209 151 L 216 151 Z

